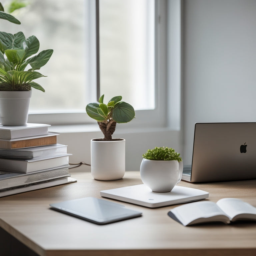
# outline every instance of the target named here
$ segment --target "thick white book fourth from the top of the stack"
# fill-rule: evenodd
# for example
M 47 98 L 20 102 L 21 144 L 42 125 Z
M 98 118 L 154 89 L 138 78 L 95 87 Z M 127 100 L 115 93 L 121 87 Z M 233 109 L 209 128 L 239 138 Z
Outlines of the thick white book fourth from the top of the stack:
M 49 170 L 68 164 L 71 154 L 52 156 L 50 158 L 38 158 L 28 160 L 16 160 L 0 158 L 0 170 L 10 172 L 30 173 L 41 170 Z

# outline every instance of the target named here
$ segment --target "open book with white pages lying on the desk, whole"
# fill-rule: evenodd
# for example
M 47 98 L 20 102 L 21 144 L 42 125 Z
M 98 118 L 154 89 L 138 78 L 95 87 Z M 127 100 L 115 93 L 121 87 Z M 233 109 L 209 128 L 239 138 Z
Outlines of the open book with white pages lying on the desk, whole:
M 224 222 L 237 220 L 256 221 L 256 207 L 237 198 L 222 198 L 217 203 L 200 201 L 177 206 L 168 215 L 184 226 L 204 222 Z

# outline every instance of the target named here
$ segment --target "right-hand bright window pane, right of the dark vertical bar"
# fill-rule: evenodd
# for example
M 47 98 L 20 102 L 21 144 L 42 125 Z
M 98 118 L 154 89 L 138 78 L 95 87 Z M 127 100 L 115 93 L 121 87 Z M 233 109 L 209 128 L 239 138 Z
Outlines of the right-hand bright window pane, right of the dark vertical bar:
M 155 1 L 99 0 L 100 94 L 155 108 Z

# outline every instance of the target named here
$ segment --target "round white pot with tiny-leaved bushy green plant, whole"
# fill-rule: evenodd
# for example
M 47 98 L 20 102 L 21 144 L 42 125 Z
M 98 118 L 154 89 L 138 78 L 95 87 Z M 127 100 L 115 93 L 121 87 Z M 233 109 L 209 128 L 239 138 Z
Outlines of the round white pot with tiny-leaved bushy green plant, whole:
M 142 157 L 141 180 L 153 192 L 170 192 L 180 182 L 182 158 L 173 148 L 155 147 Z

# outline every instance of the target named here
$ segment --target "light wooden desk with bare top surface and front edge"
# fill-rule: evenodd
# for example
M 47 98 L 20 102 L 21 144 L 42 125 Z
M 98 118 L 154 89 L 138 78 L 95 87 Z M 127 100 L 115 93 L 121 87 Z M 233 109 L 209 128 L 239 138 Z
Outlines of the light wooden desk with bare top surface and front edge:
M 100 226 L 50 210 L 50 203 L 100 198 L 100 190 L 142 184 L 139 172 L 126 172 L 118 181 L 71 174 L 77 183 L 0 198 L 0 227 L 39 255 L 256 255 L 256 223 L 184 227 L 167 215 L 174 206 L 150 209 L 122 202 L 143 216 Z M 214 202 L 237 197 L 256 206 L 256 180 L 180 185 L 208 191 Z

